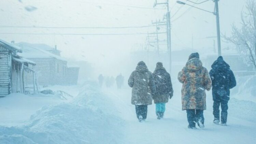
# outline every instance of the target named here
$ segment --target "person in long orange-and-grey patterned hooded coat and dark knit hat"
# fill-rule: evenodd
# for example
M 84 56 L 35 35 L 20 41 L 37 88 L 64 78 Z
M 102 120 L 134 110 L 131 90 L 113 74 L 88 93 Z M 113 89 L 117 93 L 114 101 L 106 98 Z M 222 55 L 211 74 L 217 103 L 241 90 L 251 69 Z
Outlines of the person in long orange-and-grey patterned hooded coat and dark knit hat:
M 187 111 L 188 128 L 196 129 L 196 124 L 204 128 L 203 111 L 206 110 L 206 90 L 212 81 L 206 68 L 202 66 L 198 53 L 192 53 L 186 66 L 179 72 L 182 86 L 182 110 Z

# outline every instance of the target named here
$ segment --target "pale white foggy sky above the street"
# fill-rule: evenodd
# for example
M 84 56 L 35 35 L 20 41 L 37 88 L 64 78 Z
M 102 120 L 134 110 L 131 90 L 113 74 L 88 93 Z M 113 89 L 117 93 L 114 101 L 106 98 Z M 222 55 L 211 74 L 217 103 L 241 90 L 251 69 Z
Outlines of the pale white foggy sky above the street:
M 166 45 L 160 46 L 159 57 L 162 59 L 154 55 L 156 53 L 154 48 L 150 60 L 140 55 L 136 58 L 131 56 L 131 52 L 144 49 L 146 33 L 155 32 L 155 27 L 113 28 L 150 26 L 152 21 L 162 20 L 167 11 L 166 6 L 158 5 L 153 8 L 154 2 L 154 0 L 0 0 L 0 38 L 15 43 L 44 43 L 52 47 L 57 45 L 62 57 L 89 62 L 94 71 L 91 78 L 96 78 L 100 73 L 110 76 L 124 73 L 127 78 L 140 59 L 146 62 L 150 71 L 153 71 L 157 61 L 162 61 L 169 69 L 168 57 L 165 56 Z M 175 0 L 170 0 L 169 3 L 172 51 L 185 49 L 187 52 L 196 51 L 199 54 L 214 53 L 212 47 L 213 40 L 216 40 L 215 15 L 178 4 Z M 244 0 L 219 2 L 222 34 L 229 35 L 233 23 L 239 25 L 244 4 Z M 196 6 L 214 11 L 212 1 Z M 160 27 L 161 30 L 165 30 L 165 26 Z M 161 34 L 159 39 L 166 40 L 166 35 Z M 227 47 L 234 48 L 233 45 L 222 41 L 222 48 Z M 186 55 L 188 57 L 188 54 Z M 175 76 L 176 74 L 176 72 L 172 73 Z

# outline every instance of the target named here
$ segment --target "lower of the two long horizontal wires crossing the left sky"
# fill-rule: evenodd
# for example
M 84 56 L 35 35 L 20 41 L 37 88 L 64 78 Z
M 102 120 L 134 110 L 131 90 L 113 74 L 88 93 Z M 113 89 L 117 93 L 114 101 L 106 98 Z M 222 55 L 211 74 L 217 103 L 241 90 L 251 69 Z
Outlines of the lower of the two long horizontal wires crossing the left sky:
M 158 34 L 163 34 L 160 32 Z M 3 32 L 0 34 L 18 34 L 18 35 L 144 35 L 144 34 L 155 34 L 155 33 L 9 33 Z

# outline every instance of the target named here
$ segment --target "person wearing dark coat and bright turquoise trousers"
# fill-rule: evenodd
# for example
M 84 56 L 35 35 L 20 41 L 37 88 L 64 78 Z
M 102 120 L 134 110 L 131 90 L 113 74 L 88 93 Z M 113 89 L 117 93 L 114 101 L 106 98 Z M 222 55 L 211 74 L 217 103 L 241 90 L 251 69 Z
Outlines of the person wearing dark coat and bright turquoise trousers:
M 173 96 L 172 81 L 170 74 L 163 68 L 161 62 L 156 63 L 153 77 L 156 85 L 156 94 L 153 97 L 156 104 L 156 116 L 157 119 L 161 119 L 165 113 L 165 104 Z

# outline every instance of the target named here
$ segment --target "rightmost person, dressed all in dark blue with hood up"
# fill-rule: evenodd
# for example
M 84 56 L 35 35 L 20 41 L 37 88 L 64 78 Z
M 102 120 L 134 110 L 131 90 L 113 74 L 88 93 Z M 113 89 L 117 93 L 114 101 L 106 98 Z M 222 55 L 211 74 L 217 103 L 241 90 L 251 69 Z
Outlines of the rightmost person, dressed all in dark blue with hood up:
M 230 89 L 237 85 L 236 78 L 229 65 L 220 56 L 212 64 L 213 123 L 219 124 L 219 106 L 221 105 L 221 125 L 226 126 Z

